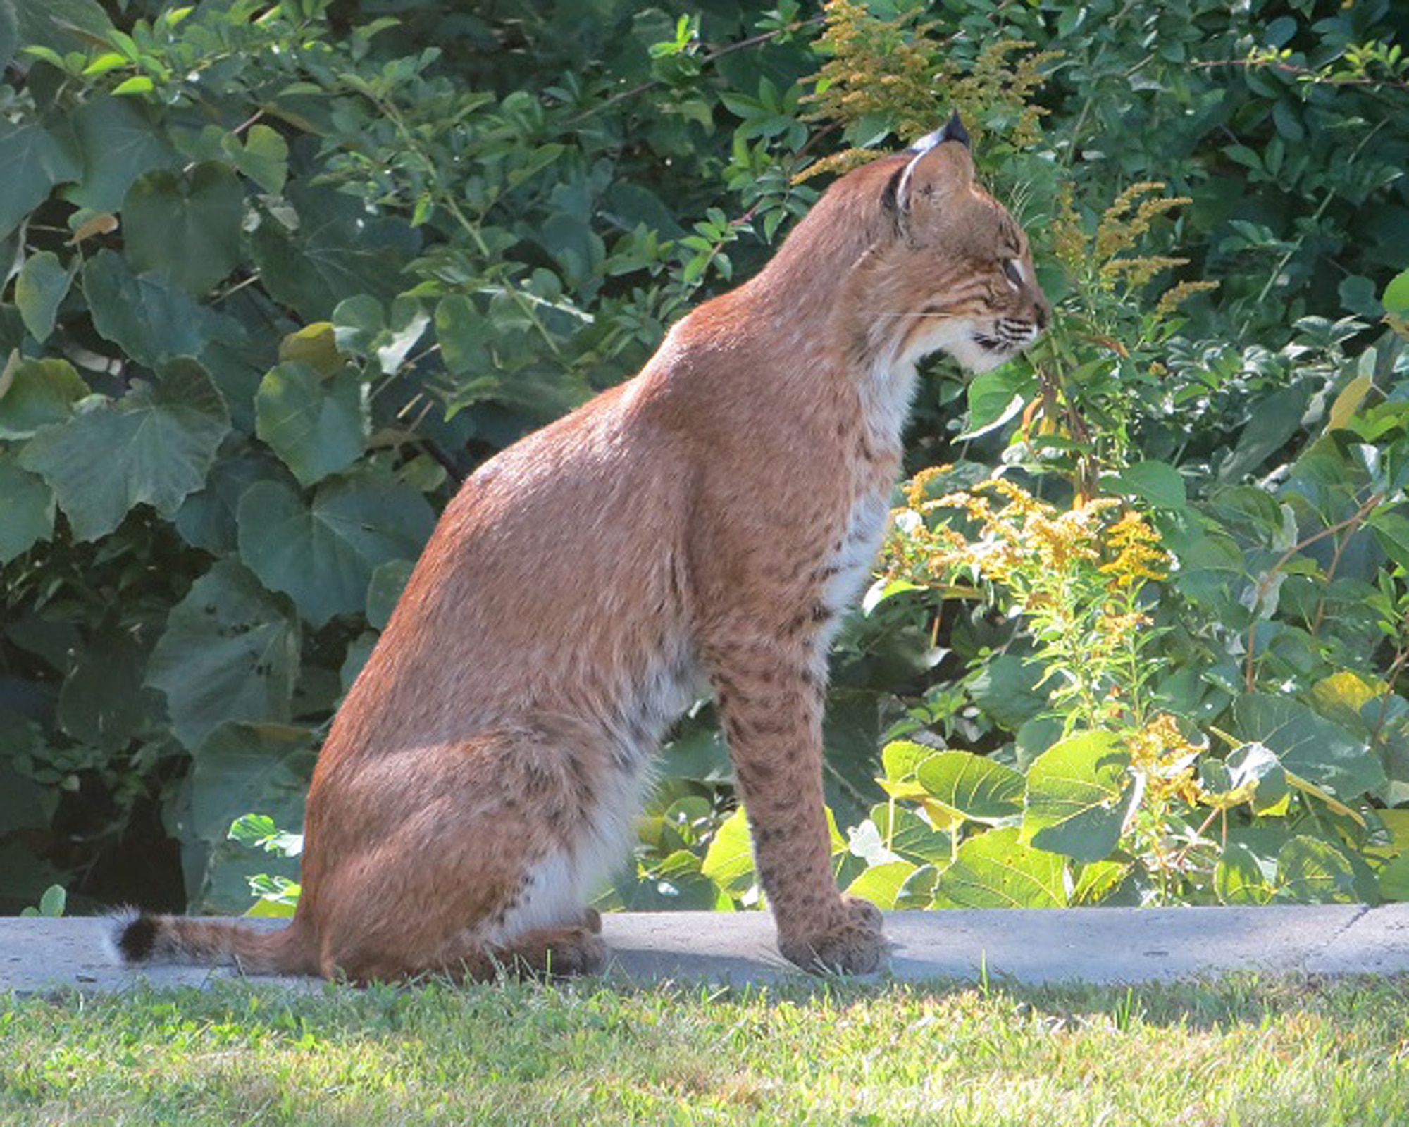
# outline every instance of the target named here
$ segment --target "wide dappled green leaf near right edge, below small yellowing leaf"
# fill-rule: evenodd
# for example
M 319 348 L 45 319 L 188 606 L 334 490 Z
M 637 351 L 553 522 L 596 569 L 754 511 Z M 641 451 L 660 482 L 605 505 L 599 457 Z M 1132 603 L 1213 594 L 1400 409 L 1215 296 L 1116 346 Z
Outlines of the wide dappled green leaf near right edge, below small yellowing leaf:
M 1267 744 L 1282 766 L 1341 802 L 1385 783 L 1385 772 L 1364 740 L 1317 716 L 1289 696 L 1247 693 L 1233 704 L 1234 731 Z

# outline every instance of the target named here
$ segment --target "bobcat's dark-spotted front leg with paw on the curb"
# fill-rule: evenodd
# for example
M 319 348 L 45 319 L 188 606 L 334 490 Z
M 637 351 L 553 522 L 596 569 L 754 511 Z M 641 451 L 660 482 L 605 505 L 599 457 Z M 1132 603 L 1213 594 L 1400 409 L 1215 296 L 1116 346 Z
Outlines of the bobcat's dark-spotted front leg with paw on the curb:
M 841 896 L 831 875 L 824 683 L 810 648 L 750 633 L 712 645 L 707 661 L 779 949 L 809 971 L 875 971 L 886 947 L 881 913 Z

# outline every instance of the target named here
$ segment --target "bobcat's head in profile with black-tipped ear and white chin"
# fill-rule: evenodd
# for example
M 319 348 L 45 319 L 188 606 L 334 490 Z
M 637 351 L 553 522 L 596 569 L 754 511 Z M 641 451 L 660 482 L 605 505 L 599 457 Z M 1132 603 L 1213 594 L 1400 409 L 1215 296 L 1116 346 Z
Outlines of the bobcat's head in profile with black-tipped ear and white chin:
M 883 214 L 862 299 L 874 344 L 905 361 L 943 351 L 982 372 L 1037 340 L 1051 306 L 1022 228 L 974 180 L 958 114 L 862 172 Z

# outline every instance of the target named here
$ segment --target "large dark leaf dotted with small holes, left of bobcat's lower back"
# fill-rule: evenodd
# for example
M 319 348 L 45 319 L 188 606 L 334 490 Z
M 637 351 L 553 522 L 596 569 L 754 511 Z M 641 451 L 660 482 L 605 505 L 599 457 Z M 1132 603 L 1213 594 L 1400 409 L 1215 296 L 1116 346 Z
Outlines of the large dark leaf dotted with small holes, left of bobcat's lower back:
M 297 673 L 297 620 L 223 559 L 172 609 L 147 683 L 166 695 L 176 738 L 194 751 L 227 720 L 287 720 Z

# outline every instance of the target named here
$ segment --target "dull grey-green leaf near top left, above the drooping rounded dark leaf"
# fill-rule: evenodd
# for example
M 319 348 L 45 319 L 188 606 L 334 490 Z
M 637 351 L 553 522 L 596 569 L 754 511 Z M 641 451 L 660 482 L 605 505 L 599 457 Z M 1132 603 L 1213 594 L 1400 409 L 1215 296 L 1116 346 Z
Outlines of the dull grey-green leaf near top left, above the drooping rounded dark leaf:
M 83 152 L 83 178 L 63 194 L 89 211 L 116 213 L 138 176 L 173 168 L 176 154 L 135 99 L 99 94 L 73 113 Z

